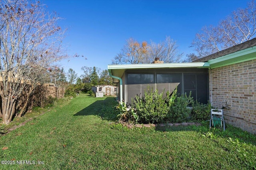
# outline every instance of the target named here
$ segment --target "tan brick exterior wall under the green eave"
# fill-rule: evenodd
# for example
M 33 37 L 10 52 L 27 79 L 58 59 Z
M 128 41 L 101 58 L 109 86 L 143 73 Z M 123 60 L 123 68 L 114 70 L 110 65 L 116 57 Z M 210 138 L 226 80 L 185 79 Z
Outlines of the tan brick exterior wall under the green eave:
M 212 105 L 221 109 L 227 102 L 231 109 L 224 109 L 225 121 L 256 134 L 256 59 L 211 72 Z

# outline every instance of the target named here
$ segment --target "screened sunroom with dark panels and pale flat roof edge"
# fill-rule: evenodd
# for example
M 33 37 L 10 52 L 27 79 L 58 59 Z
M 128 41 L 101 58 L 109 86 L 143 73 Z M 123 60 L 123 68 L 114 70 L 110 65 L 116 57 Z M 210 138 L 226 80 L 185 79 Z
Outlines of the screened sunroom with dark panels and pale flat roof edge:
M 130 105 L 136 95 L 142 97 L 148 85 L 161 93 L 192 93 L 194 100 L 209 100 L 209 71 L 205 63 L 151 63 L 108 65 L 113 82 L 118 83 L 118 100 Z

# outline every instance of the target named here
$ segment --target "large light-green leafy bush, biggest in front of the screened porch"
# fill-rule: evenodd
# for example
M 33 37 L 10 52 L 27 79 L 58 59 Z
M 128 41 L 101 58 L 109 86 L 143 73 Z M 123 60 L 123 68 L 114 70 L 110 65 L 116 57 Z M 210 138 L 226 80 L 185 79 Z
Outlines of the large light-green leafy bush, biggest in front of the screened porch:
M 141 123 L 161 123 L 166 119 L 170 106 L 174 103 L 177 89 L 172 95 L 168 91 L 165 98 L 163 93 L 159 94 L 157 89 L 153 92 L 153 89 L 148 86 L 144 97 L 137 95 L 135 100 L 132 100 L 132 107 L 136 108 Z

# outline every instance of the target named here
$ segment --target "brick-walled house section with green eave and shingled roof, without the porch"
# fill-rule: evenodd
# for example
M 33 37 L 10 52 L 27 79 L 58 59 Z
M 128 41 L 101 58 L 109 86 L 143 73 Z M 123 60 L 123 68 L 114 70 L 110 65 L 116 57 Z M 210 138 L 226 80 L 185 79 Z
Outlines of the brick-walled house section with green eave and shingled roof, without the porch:
M 198 59 L 209 63 L 210 101 L 227 123 L 256 134 L 256 38 Z

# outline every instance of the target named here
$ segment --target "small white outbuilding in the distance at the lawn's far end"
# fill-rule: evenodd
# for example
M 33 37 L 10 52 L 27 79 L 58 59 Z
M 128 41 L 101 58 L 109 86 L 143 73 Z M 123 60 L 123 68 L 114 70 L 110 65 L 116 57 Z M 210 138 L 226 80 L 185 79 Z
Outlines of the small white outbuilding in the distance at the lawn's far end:
M 96 97 L 116 96 L 117 87 L 114 85 L 96 85 L 92 86 L 92 91 L 96 94 Z

